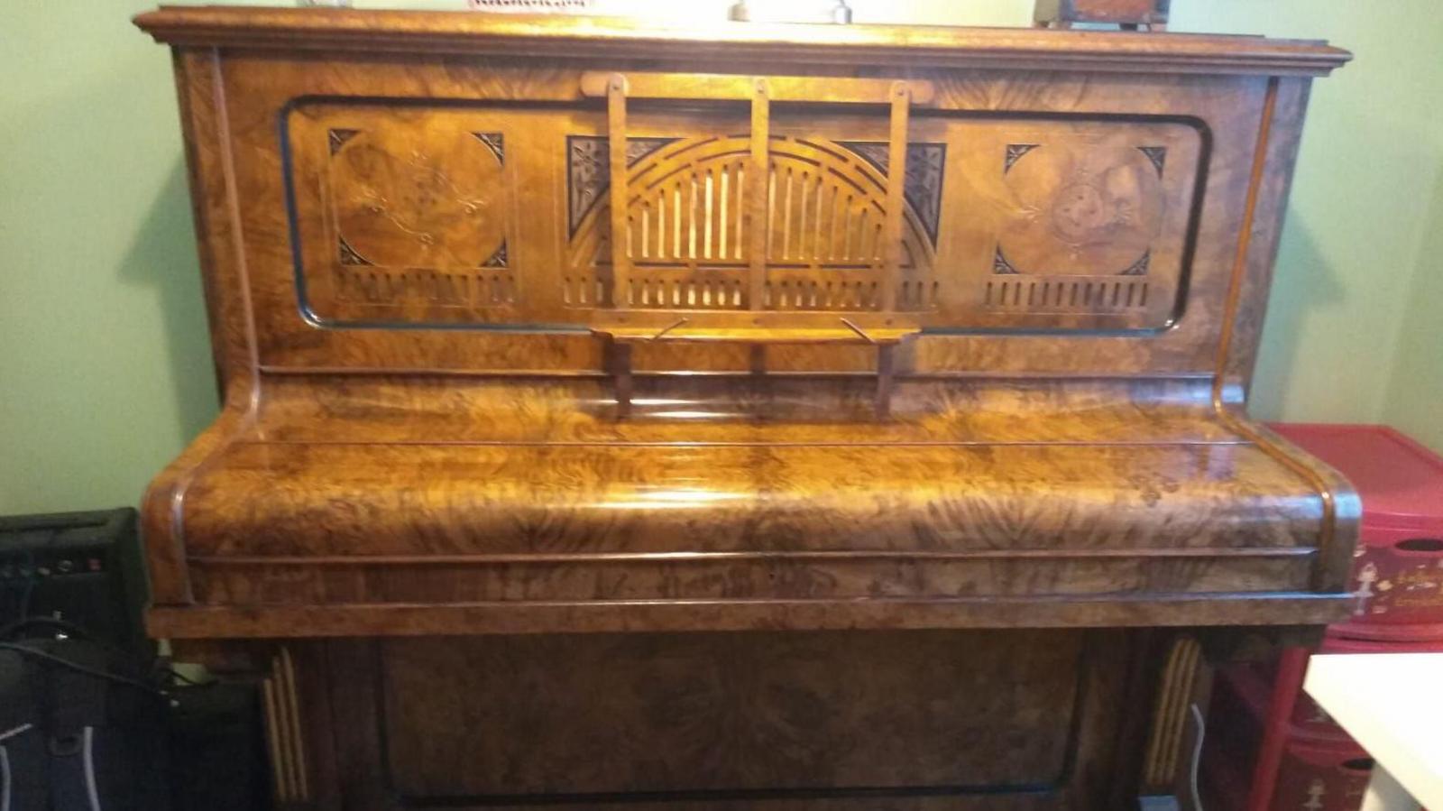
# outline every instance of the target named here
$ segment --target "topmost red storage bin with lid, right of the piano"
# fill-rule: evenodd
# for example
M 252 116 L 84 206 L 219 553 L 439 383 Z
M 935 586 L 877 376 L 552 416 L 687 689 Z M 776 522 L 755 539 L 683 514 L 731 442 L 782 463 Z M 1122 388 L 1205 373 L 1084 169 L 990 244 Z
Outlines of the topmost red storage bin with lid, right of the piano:
M 1333 629 L 1361 639 L 1443 638 L 1443 457 L 1382 426 L 1270 427 L 1348 476 L 1362 498 L 1358 605 Z

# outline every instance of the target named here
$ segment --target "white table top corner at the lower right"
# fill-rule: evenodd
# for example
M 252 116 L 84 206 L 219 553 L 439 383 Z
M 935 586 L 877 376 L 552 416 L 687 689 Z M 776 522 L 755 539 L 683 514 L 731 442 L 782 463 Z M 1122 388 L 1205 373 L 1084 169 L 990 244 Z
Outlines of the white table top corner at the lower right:
M 1313 657 L 1303 688 L 1427 808 L 1443 808 L 1443 654 Z

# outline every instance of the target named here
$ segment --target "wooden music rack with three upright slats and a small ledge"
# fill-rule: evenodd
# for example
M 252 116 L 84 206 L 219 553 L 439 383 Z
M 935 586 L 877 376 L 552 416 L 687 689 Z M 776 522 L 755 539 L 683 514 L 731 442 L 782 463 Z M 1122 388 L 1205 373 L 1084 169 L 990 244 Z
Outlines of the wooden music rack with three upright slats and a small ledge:
M 658 341 L 747 343 L 753 348 L 753 372 L 765 372 L 765 348 L 779 343 L 864 343 L 877 349 L 876 416 L 890 411 L 896 346 L 921 332 L 915 312 L 898 307 L 902 283 L 902 224 L 905 212 L 908 121 L 913 104 L 929 104 L 929 82 L 866 78 L 747 78 L 732 75 L 603 74 L 582 76 L 583 95 L 606 98 L 610 172 L 612 271 L 606 284 L 610 307 L 597 309 L 590 320 L 595 335 L 606 341 L 606 364 L 616 387 L 618 416 L 631 411 L 632 346 Z M 746 101 L 750 104 L 749 133 L 752 177 L 771 176 L 772 102 L 870 104 L 890 110 L 887 133 L 889 170 L 886 209 L 882 222 L 883 255 L 876 267 L 877 296 L 869 309 L 794 310 L 769 306 L 765 294 L 771 270 L 772 199 L 771 183 L 753 182 L 745 189 L 745 232 L 747 273 L 734 309 L 644 307 L 633 280 L 636 255 L 631 240 L 629 208 L 633 189 L 626 156 L 628 98 L 674 101 Z M 827 270 L 811 267 L 824 276 Z M 698 273 L 696 261 L 691 267 Z M 700 273 L 706 273 L 701 270 Z

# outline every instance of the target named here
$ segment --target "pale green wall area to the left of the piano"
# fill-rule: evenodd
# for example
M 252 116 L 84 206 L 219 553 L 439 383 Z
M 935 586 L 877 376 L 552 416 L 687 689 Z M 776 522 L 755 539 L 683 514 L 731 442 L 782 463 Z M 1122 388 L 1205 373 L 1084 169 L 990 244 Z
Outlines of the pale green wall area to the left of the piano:
M 144 0 L 0 0 L 0 512 L 134 504 L 215 413 Z

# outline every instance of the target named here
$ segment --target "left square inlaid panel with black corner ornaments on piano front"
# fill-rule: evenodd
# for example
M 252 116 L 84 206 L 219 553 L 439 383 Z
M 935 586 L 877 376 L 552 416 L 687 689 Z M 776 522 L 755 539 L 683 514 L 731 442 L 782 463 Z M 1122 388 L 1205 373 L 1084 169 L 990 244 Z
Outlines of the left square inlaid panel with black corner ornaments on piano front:
M 317 322 L 505 319 L 519 293 L 498 115 L 300 107 L 289 118 L 302 307 Z

